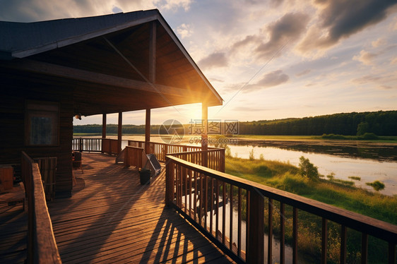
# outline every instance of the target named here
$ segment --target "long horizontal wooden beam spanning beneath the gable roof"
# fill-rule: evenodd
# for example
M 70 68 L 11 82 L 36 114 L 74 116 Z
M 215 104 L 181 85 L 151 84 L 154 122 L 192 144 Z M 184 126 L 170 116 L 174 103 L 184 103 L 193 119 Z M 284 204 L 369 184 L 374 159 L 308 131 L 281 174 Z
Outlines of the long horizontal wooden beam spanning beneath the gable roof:
M 5 68 L 13 68 L 31 73 L 40 73 L 49 76 L 57 76 L 61 78 L 69 78 L 72 80 L 81 80 L 89 83 L 97 83 L 100 85 L 116 86 L 120 88 L 129 88 L 134 90 L 143 90 L 146 92 L 155 92 L 162 95 L 172 95 L 179 97 L 200 97 L 200 92 L 190 90 L 188 88 L 175 88 L 167 85 L 150 84 L 140 80 L 132 80 L 117 76 L 110 76 L 103 73 L 93 71 L 80 70 L 57 64 L 49 64 L 42 61 L 34 60 L 17 60 L 17 61 L 1 61 L 0 66 Z

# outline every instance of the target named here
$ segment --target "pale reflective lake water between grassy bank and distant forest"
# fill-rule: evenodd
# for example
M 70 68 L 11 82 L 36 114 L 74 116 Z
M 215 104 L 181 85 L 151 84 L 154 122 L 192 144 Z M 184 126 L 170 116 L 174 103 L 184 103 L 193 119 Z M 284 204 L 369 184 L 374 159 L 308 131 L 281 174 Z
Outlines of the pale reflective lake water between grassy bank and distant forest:
M 263 155 L 265 160 L 289 162 L 298 166 L 299 158 L 304 156 L 319 169 L 323 175 L 335 174 L 336 179 L 349 180 L 349 176 L 359 176 L 360 181 L 354 181 L 355 186 L 373 190 L 367 182 L 382 181 L 386 195 L 397 195 L 397 147 L 361 145 L 279 145 L 278 147 L 253 143 L 251 145 L 229 145 L 232 156 L 249 158 L 249 152 L 254 150 L 254 157 Z

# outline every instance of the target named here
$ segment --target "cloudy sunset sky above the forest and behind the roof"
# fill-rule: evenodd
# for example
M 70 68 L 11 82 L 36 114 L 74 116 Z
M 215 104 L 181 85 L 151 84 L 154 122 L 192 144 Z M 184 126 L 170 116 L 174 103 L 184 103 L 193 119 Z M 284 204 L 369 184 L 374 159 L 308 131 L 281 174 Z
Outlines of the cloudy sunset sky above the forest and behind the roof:
M 0 20 L 152 8 L 223 97 L 209 119 L 397 109 L 396 0 L 0 0 Z M 201 119 L 201 104 L 152 110 L 152 124 L 167 119 Z M 102 116 L 73 120 L 101 124 Z M 144 123 L 144 111 L 123 114 L 123 124 Z M 117 114 L 108 114 L 107 124 L 117 124 Z

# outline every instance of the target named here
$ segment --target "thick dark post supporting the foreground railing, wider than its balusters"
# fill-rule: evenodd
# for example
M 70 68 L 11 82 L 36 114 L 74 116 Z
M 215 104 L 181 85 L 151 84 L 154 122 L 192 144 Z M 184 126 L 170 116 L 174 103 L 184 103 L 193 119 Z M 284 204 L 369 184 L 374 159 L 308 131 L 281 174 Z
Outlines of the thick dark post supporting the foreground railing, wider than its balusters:
M 264 222 L 265 202 L 261 193 L 249 191 L 249 241 L 247 246 L 247 263 L 263 263 L 264 260 Z

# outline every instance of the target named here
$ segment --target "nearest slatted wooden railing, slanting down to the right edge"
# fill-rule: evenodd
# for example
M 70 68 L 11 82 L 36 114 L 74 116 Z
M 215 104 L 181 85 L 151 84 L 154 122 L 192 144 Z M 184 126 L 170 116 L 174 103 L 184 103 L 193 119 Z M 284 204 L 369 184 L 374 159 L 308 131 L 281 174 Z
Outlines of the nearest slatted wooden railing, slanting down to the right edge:
M 395 263 L 396 225 L 217 172 L 172 155 L 167 155 L 166 160 L 165 200 L 167 205 L 184 215 L 191 224 L 200 229 L 208 236 L 208 239 L 237 262 L 263 263 L 265 258 L 264 226 L 267 224 L 267 263 L 273 263 L 273 224 L 278 222 L 280 224 L 280 252 L 276 254 L 279 254 L 280 263 L 285 263 L 285 218 L 286 208 L 288 208 L 292 215 L 292 221 L 288 220 L 292 222 L 292 263 L 297 263 L 299 247 L 298 211 L 316 215 L 322 219 L 320 221 L 322 224 L 321 263 L 326 263 L 327 260 L 327 224 L 329 221 L 340 224 L 340 263 L 346 263 L 348 228 L 361 233 L 362 263 L 367 263 L 368 236 L 386 241 L 389 244 L 388 263 Z M 229 210 L 226 210 L 226 203 L 229 205 Z M 275 204 L 279 206 L 275 208 Z M 264 220 L 265 211 L 267 223 Z M 275 211 L 278 213 L 275 214 Z M 275 215 L 279 218 L 275 219 Z M 243 219 L 246 220 L 245 228 L 242 224 Z M 242 241 L 243 233 L 245 233 L 245 241 Z M 242 245 L 243 242 L 245 242 L 245 247 Z

